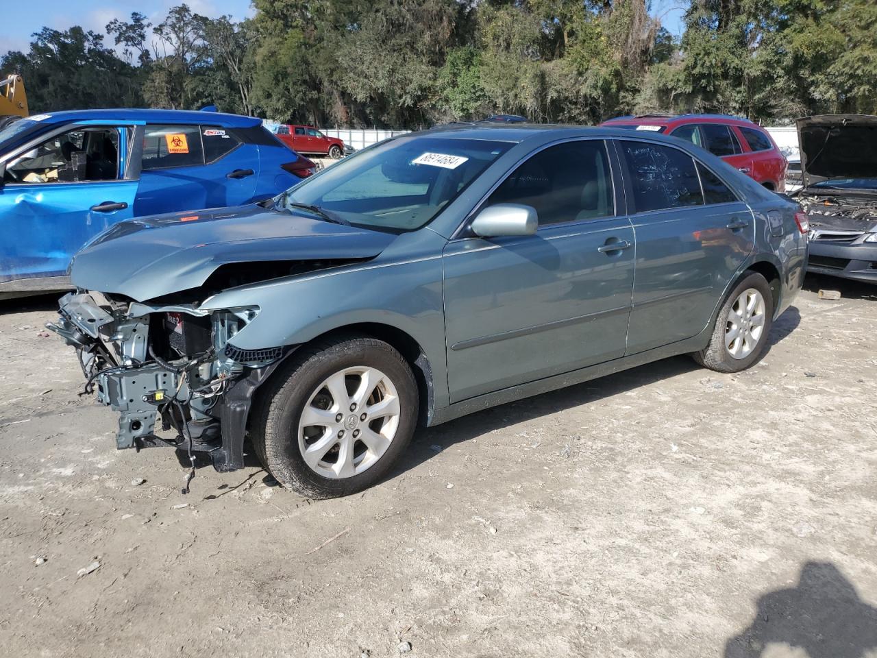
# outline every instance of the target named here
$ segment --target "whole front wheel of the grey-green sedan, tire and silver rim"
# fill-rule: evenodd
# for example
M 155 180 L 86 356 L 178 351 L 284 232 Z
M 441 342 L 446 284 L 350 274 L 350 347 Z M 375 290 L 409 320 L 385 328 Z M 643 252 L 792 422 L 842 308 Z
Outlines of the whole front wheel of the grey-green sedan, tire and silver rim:
M 387 475 L 417 425 L 417 382 L 389 344 L 346 337 L 303 348 L 263 392 L 253 447 L 310 498 L 349 496 Z

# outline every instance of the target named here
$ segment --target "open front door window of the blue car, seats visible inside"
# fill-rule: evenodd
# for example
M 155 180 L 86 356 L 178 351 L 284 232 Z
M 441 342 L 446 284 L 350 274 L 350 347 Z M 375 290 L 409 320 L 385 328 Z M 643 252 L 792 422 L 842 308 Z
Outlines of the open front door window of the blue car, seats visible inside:
M 119 176 L 116 128 L 76 128 L 46 139 L 6 167 L 6 183 L 115 181 Z

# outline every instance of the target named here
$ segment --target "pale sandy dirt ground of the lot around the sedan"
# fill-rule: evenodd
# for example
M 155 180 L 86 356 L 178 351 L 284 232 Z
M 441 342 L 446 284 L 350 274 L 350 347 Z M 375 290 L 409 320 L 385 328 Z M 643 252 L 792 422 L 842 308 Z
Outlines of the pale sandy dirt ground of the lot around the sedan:
M 76 396 L 53 300 L 2 303 L 0 653 L 873 658 L 877 289 L 807 287 L 749 372 L 484 411 L 318 503 L 254 460 L 182 496 Z

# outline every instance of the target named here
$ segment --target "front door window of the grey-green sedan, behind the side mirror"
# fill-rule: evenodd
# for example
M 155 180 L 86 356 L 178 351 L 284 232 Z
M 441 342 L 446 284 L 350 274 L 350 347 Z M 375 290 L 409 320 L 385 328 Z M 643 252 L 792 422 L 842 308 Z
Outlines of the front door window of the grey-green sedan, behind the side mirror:
M 615 214 L 612 175 L 602 139 L 546 148 L 520 165 L 488 199 L 536 209 L 539 225 Z

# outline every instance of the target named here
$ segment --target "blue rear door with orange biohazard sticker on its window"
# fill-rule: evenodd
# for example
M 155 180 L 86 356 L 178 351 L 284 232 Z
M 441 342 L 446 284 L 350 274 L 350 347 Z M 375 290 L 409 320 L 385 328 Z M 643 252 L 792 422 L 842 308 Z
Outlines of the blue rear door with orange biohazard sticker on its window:
M 146 125 L 134 213 L 246 204 L 259 178 L 259 149 L 218 125 Z

